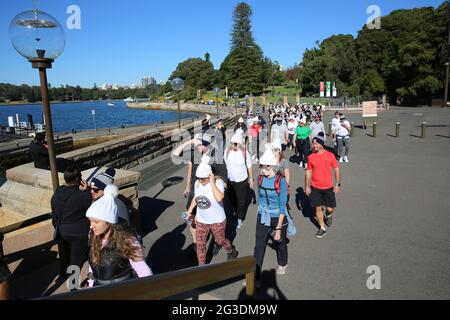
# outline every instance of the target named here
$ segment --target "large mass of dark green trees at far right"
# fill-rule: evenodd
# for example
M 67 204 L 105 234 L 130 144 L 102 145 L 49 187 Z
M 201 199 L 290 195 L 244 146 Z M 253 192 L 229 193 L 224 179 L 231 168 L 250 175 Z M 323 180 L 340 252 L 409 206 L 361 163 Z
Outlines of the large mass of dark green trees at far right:
M 341 95 L 442 94 L 447 5 L 393 11 L 382 17 L 380 30 L 363 26 L 356 39 L 336 35 L 307 49 L 299 68 L 304 92 L 317 94 L 320 81 L 335 81 Z

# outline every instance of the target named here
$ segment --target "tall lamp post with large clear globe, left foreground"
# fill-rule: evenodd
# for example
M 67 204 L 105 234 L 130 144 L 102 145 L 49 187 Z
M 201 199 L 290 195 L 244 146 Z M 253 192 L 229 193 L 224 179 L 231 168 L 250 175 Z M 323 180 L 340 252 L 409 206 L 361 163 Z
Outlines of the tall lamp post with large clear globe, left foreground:
M 52 67 L 52 62 L 64 50 L 64 30 L 55 18 L 34 8 L 19 13 L 11 20 L 9 35 L 16 51 L 31 62 L 33 69 L 39 69 L 50 170 L 53 190 L 56 190 L 59 186 L 59 179 L 48 97 L 47 69 Z

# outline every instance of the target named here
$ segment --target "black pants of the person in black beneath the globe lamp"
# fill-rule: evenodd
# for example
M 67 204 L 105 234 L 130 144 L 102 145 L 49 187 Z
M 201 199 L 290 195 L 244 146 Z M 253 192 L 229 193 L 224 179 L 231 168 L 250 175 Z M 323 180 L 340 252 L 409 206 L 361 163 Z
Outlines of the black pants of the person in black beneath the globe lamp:
M 60 257 L 60 274 L 66 274 L 67 267 L 76 265 L 83 267 L 88 257 L 88 237 L 61 235 L 58 241 Z

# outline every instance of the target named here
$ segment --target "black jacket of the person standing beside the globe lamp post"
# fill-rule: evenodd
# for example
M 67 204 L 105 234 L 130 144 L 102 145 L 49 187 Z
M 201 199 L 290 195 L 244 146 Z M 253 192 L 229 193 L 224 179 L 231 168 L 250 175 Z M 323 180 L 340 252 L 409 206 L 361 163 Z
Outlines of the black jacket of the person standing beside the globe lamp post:
M 52 220 L 54 226 L 60 221 L 59 232 L 63 237 L 87 237 L 90 222 L 86 218 L 86 211 L 91 203 L 89 191 L 81 191 L 78 186 L 56 189 L 51 200 Z

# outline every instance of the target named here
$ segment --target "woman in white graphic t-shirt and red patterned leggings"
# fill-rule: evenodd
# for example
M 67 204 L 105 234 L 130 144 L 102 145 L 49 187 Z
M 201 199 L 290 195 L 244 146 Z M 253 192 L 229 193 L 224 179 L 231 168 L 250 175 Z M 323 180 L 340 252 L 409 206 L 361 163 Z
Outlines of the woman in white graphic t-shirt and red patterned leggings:
M 206 263 L 206 241 L 211 230 L 216 247 L 223 247 L 228 253 L 228 260 L 235 259 L 238 251 L 225 237 L 227 225 L 223 199 L 225 193 L 225 183 L 221 178 L 213 175 L 209 159 L 205 157 L 203 162 L 197 167 L 195 176 L 195 197 L 186 212 L 191 218 L 192 211 L 197 207 L 195 222 L 197 226 L 197 259 L 199 265 Z

